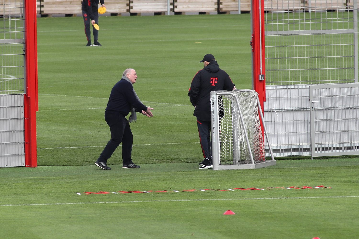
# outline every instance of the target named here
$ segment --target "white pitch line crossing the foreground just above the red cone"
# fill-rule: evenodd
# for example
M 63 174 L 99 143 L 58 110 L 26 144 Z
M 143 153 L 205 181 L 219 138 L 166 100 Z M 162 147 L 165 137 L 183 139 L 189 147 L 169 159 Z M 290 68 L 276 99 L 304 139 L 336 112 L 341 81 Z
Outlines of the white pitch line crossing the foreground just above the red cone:
M 181 199 L 181 200 L 147 200 L 147 201 L 115 201 L 115 202 L 64 202 L 64 203 L 45 203 L 45 204 L 3 204 L 6 206 L 48 206 L 48 205 L 80 205 L 80 204 L 105 204 L 105 203 L 138 203 L 138 202 L 194 202 L 194 201 L 242 201 L 242 200 L 281 200 L 281 199 L 338 199 L 355 198 L 359 196 L 327 196 L 327 197 L 259 197 L 247 199 Z

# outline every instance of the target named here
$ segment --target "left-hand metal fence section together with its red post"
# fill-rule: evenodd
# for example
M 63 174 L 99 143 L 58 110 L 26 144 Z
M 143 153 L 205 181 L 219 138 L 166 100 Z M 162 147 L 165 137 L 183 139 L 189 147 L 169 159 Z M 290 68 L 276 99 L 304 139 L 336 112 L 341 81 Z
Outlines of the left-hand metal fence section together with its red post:
M 0 167 L 37 167 L 36 1 L 0 8 Z

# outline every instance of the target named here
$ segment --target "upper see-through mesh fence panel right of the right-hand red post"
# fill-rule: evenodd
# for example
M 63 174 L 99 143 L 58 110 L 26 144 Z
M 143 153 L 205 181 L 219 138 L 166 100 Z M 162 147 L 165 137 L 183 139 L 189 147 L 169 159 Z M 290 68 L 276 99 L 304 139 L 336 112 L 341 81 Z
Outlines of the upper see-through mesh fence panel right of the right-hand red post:
M 285 1 L 302 4 L 286 9 L 264 2 L 271 10 L 265 14 L 266 85 L 358 80 L 357 14 L 349 10 L 352 6 L 339 8 L 346 1 L 316 1 L 315 8 Z

